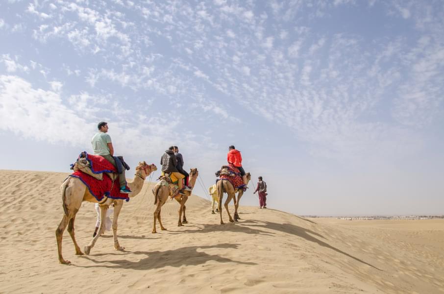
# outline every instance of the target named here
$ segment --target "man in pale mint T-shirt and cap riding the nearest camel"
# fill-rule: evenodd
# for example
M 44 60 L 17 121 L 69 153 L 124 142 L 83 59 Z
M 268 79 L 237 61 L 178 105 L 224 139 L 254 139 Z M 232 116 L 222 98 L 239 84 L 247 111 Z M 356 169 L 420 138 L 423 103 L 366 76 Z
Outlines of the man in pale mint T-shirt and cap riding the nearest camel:
M 101 157 L 108 160 L 115 168 L 116 171 L 117 165 L 116 161 L 113 158 L 114 155 L 114 147 L 111 143 L 111 137 L 107 134 L 108 132 L 108 123 L 100 122 L 97 125 L 99 132 L 94 135 L 93 139 L 91 139 L 91 145 L 93 146 L 94 155 L 100 155 Z M 120 193 L 129 194 L 131 190 L 126 188 L 126 178 L 125 178 L 125 169 L 122 169 L 122 172 L 119 173 L 119 182 L 120 182 Z

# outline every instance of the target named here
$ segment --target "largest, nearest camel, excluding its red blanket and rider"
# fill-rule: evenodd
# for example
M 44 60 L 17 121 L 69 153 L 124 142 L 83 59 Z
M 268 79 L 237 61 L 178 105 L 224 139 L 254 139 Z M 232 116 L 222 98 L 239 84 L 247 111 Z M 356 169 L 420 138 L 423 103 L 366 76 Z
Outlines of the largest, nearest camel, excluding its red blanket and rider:
M 135 177 L 132 182 L 128 182 L 127 185 L 131 189 L 132 193 L 129 194 L 129 197 L 134 197 L 140 193 L 142 187 L 144 185 L 144 181 L 146 177 L 151 173 L 156 171 L 157 168 L 154 164 L 148 165 L 145 161 L 139 162 L 139 165 L 136 167 Z M 91 195 L 88 188 L 83 184 L 83 182 L 76 178 L 69 176 L 62 184 L 61 194 L 62 194 L 62 203 L 63 203 L 63 211 L 64 215 L 62 221 L 55 231 L 55 236 L 57 239 L 57 250 L 58 250 L 58 258 L 61 264 L 70 264 L 71 262 L 63 259 L 62 257 L 62 238 L 63 232 L 65 231 L 66 226 L 68 225 L 68 232 L 70 233 L 71 239 L 73 239 L 74 247 L 75 247 L 75 255 L 83 255 L 83 252 L 80 250 L 80 247 L 77 245 L 74 237 L 74 220 L 75 215 L 77 214 L 81 204 L 83 201 L 97 203 L 96 197 Z M 120 210 L 122 209 L 123 199 L 112 199 L 107 198 L 105 202 L 100 203 L 100 228 L 99 233 L 91 240 L 91 242 L 84 247 L 85 253 L 88 255 L 91 251 L 91 248 L 94 247 L 96 241 L 99 239 L 100 235 L 105 231 L 105 218 L 108 207 L 114 203 L 114 218 L 113 218 L 113 239 L 114 239 L 114 249 L 115 250 L 123 250 L 124 247 L 119 245 L 119 241 L 117 240 L 117 219 L 119 218 Z

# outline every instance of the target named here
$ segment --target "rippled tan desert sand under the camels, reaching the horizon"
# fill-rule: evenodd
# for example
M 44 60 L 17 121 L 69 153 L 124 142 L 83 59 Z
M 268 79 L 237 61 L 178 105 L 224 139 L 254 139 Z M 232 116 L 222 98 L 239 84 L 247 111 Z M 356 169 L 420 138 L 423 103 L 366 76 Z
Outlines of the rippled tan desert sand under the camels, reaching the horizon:
M 152 234 L 153 184 L 123 204 L 119 242 L 111 232 L 90 255 L 76 256 L 68 232 L 57 260 L 59 187 L 69 173 L 0 171 L 0 293 L 444 293 L 444 220 L 305 219 L 241 206 L 241 220 L 220 225 L 211 203 L 162 209 L 168 231 Z M 129 175 L 129 174 L 128 174 Z M 251 192 L 249 192 L 251 193 Z M 269 200 L 272 207 L 272 200 Z M 233 211 L 233 209 L 231 210 Z M 75 221 L 80 247 L 92 238 L 94 203 Z

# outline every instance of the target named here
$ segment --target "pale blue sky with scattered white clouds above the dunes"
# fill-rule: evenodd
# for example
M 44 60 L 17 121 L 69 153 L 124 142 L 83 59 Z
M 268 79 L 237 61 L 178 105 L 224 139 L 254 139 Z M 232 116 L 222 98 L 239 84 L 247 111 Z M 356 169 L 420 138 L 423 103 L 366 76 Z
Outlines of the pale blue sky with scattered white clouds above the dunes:
M 262 176 L 297 215 L 442 215 L 444 2 L 1 1 L 0 169 L 70 172 L 100 121 L 203 198 L 234 145 L 241 205 Z

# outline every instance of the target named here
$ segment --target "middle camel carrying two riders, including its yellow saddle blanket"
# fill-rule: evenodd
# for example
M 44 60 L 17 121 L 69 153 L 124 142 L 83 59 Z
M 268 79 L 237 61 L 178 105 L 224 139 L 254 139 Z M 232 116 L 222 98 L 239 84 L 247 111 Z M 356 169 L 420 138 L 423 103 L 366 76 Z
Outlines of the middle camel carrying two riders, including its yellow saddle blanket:
M 160 229 L 166 230 L 166 228 L 162 225 L 162 221 L 160 218 L 160 211 L 162 209 L 162 206 L 165 204 L 167 199 L 171 197 L 174 198 L 177 202 L 180 204 L 179 208 L 179 220 L 177 222 L 177 226 L 182 226 L 183 223 L 188 223 L 187 218 L 185 216 L 186 206 L 185 202 L 188 200 L 188 196 L 191 195 L 191 192 L 194 188 L 194 185 L 196 184 L 197 176 L 199 172 L 197 171 L 197 168 L 190 169 L 190 179 L 188 186 L 191 188 L 190 191 L 184 190 L 183 193 L 179 193 L 179 187 L 178 187 L 178 181 L 177 177 L 174 176 L 173 173 L 163 173 L 160 176 L 160 181 L 156 184 L 154 189 L 152 190 L 152 193 L 154 195 L 154 204 L 156 205 L 156 209 L 154 210 L 154 221 L 153 221 L 153 227 L 152 227 L 152 233 L 157 233 L 156 231 L 156 219 L 159 221 Z M 182 181 L 182 179 L 180 179 Z M 183 220 L 181 221 L 183 213 Z

